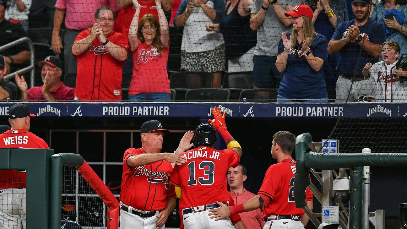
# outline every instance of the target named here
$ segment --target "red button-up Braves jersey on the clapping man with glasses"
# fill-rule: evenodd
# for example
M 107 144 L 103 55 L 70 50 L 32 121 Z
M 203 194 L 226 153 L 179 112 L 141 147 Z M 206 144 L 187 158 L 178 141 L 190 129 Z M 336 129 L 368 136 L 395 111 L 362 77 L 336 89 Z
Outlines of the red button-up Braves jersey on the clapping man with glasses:
M 75 42 L 90 35 L 84 30 Z M 121 33 L 112 31 L 106 38 L 120 47 L 129 50 L 127 38 Z M 124 61 L 114 58 L 102 43 L 95 39 L 89 48 L 78 59 L 75 96 L 82 101 L 97 102 L 98 100 L 119 101 L 122 99 L 122 72 Z

